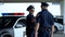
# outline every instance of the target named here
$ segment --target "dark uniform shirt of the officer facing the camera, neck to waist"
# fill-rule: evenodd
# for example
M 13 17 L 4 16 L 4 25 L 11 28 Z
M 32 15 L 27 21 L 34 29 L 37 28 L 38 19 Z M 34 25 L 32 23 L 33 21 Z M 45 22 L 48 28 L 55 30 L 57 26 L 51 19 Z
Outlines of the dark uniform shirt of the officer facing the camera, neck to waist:
M 26 17 L 26 26 L 27 26 L 27 28 L 34 28 L 34 26 L 35 26 L 35 22 L 31 22 L 32 21 L 32 18 L 35 18 L 35 16 L 34 15 L 31 15 L 31 14 L 28 14 L 27 15 L 27 17 Z

